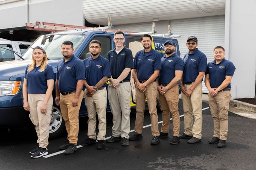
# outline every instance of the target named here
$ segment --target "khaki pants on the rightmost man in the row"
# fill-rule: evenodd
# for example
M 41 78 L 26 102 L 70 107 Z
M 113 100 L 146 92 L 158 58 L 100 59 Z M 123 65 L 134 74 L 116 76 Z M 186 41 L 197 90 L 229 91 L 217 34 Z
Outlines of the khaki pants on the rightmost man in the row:
M 212 97 L 209 96 L 209 106 L 214 124 L 214 137 L 227 140 L 228 120 L 227 114 L 230 103 L 230 91 L 219 91 Z

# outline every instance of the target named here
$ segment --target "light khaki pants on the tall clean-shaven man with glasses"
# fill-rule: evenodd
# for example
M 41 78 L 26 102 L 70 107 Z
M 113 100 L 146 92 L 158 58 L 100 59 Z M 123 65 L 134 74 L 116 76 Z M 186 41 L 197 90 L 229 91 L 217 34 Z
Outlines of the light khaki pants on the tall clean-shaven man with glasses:
M 120 83 L 118 88 L 108 85 L 108 100 L 113 114 L 112 135 L 129 138 L 131 113 L 131 84 Z

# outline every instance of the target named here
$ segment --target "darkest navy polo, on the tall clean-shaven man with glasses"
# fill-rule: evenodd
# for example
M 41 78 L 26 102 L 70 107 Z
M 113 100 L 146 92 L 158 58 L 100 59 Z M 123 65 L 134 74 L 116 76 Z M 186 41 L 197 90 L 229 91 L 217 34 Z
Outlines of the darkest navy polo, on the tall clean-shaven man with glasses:
M 123 48 L 116 54 L 116 48 L 108 52 L 108 60 L 110 62 L 111 76 L 117 79 L 125 68 L 133 68 L 132 52 L 128 48 Z M 131 79 L 131 71 L 123 80 Z

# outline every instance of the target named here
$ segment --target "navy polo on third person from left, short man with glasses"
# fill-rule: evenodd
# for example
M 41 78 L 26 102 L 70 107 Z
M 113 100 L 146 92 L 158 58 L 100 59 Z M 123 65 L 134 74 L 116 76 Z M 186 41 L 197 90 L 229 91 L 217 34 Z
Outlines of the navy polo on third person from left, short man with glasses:
M 95 86 L 103 77 L 111 77 L 109 61 L 101 55 L 96 59 L 92 57 L 84 59 L 83 63 L 88 85 Z

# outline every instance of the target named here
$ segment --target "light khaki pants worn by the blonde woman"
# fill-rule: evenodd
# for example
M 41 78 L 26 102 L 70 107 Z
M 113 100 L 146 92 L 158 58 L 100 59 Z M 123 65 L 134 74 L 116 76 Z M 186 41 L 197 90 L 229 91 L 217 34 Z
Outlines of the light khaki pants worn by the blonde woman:
M 38 136 L 37 143 L 39 147 L 46 148 L 49 138 L 49 125 L 52 114 L 53 99 L 50 97 L 47 102 L 47 113 L 41 113 L 40 108 L 44 102 L 45 94 L 28 94 L 28 102 L 30 107 L 29 118 L 35 125 L 35 131 Z

